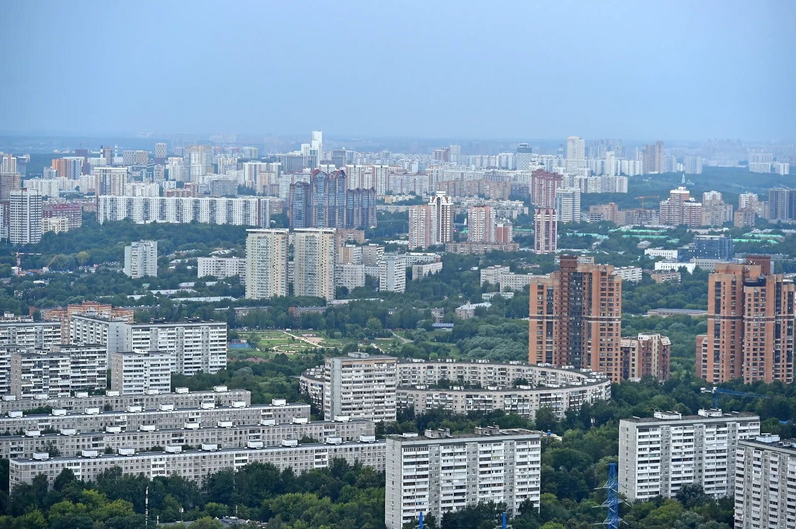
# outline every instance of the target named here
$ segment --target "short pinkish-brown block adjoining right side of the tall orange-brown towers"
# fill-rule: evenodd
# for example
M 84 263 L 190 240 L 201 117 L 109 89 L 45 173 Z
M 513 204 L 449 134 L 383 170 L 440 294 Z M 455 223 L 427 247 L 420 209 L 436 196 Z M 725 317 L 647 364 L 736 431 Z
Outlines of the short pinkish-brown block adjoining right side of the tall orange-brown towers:
M 622 378 L 641 379 L 654 376 L 669 380 L 669 361 L 672 342 L 668 336 L 639 333 L 636 337 L 622 338 Z

